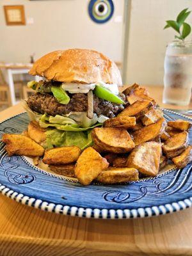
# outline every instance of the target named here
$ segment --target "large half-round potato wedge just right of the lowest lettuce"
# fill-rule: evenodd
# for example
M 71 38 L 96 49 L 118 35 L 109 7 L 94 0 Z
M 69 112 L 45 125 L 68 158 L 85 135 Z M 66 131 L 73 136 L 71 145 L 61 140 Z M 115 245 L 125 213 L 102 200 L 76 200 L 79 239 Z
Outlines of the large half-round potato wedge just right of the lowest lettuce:
M 92 138 L 103 152 L 126 153 L 134 148 L 134 142 L 125 129 L 104 127 L 94 128 Z

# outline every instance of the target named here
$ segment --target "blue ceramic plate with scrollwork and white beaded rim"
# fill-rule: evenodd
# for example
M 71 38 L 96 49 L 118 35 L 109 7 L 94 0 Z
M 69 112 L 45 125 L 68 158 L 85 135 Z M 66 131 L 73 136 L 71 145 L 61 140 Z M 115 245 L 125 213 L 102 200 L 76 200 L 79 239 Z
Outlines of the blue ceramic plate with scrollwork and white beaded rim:
M 164 109 L 166 120 L 183 118 Z M 20 133 L 26 129 L 26 113 L 0 124 L 4 132 Z M 192 132 L 189 134 L 192 144 Z M 45 172 L 23 156 L 9 157 L 0 142 L 0 191 L 17 202 L 44 211 L 86 218 L 138 218 L 191 207 L 191 164 L 182 170 L 172 168 L 157 177 L 119 185 L 82 186 L 74 180 Z

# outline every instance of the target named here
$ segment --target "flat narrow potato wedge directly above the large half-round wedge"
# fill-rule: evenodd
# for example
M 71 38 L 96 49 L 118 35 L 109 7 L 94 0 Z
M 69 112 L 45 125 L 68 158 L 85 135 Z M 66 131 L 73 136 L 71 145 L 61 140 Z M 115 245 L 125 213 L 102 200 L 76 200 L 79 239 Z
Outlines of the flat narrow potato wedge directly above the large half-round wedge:
M 134 116 L 119 116 L 109 118 L 104 122 L 104 127 L 119 127 L 119 128 L 133 128 L 136 125 L 136 118 Z

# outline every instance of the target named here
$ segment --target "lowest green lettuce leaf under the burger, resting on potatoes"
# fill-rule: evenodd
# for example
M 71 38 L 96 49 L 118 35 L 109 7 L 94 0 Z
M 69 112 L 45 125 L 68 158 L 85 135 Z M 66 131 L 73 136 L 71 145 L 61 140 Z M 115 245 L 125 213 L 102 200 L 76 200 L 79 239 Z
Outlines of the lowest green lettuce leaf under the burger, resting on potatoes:
M 93 145 L 91 131 L 71 132 L 48 129 L 46 135 L 46 148 L 77 146 L 83 150 Z

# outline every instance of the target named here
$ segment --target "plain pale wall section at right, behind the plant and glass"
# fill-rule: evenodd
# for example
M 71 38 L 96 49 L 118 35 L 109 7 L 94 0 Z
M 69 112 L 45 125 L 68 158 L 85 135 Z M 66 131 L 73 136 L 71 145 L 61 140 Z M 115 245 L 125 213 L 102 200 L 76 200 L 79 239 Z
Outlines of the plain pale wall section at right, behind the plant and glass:
M 176 34 L 163 30 L 165 20 L 176 19 L 191 0 L 131 0 L 127 84 L 163 84 L 166 45 Z M 187 22 L 192 24 L 192 13 Z

